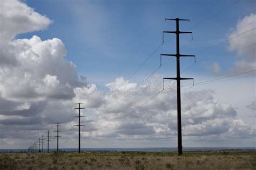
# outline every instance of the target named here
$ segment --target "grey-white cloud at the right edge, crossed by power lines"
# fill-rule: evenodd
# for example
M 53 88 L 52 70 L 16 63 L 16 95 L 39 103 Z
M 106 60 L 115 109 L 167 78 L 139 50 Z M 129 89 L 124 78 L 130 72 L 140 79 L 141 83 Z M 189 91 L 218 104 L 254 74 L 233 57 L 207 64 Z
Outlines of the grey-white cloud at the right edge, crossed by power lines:
M 234 68 L 230 68 L 230 72 L 245 72 L 246 70 L 251 70 L 256 68 L 256 52 L 255 44 L 256 43 L 256 14 L 251 13 L 248 16 L 245 16 L 238 21 L 235 29 L 230 33 L 229 38 L 237 36 L 243 32 L 254 29 L 250 32 L 242 34 L 238 38 L 231 39 L 230 46 L 228 50 L 234 51 L 237 50 L 237 55 L 239 60 L 235 61 Z M 252 45 L 252 46 L 249 46 Z M 246 48 L 243 48 L 246 47 Z

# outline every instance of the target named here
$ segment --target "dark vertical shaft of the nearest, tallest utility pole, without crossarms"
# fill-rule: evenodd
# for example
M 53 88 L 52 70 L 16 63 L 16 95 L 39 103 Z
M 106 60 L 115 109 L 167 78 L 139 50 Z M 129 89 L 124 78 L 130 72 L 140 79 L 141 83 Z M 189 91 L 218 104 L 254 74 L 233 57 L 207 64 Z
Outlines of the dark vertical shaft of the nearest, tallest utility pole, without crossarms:
M 176 53 L 177 53 L 177 129 L 178 129 L 178 155 L 182 154 L 181 137 L 181 100 L 180 100 L 180 53 L 179 53 L 179 20 L 176 20 Z

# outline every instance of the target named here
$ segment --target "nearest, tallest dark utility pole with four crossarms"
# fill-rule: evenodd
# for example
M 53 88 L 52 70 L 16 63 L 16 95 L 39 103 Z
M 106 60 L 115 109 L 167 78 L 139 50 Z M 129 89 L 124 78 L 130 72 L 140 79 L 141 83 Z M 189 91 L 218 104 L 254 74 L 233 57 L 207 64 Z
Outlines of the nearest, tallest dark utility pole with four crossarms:
M 178 155 L 182 154 L 182 138 L 181 138 L 181 101 L 180 101 L 180 80 L 188 80 L 193 78 L 181 78 L 180 77 L 180 56 L 194 56 L 194 55 L 182 55 L 179 53 L 179 34 L 182 33 L 192 33 L 192 32 L 183 32 L 179 31 L 179 21 L 180 20 L 188 20 L 189 19 L 165 19 L 165 20 L 176 20 L 176 31 L 163 31 L 163 33 L 174 33 L 176 34 L 176 54 L 161 54 L 165 56 L 176 56 L 176 69 L 177 69 L 177 77 L 175 78 L 164 78 L 169 80 L 177 81 L 177 128 L 178 128 Z

